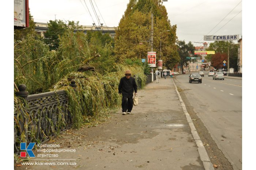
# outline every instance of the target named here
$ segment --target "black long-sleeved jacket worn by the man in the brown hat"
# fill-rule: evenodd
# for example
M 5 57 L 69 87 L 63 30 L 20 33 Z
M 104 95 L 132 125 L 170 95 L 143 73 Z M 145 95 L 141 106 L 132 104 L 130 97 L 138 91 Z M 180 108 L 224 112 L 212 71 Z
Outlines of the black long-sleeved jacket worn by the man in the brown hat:
M 123 96 L 132 97 L 133 90 L 137 93 L 137 84 L 133 77 L 127 79 L 125 76 L 121 78 L 119 86 L 118 86 L 118 93 L 122 93 Z

